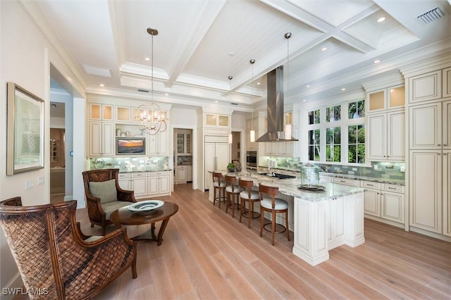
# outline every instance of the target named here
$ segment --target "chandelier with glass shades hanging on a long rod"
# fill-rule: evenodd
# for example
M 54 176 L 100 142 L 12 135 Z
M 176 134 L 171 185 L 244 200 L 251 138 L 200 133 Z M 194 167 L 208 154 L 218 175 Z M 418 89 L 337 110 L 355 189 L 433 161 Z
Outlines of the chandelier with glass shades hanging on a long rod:
M 158 132 L 164 132 L 168 129 L 168 118 L 166 111 L 161 110 L 160 106 L 154 102 L 154 36 L 158 35 L 158 30 L 147 28 L 147 33 L 152 36 L 151 46 L 151 102 L 150 104 L 140 105 L 135 115 L 135 120 L 140 123 L 140 130 L 146 130 L 149 135 L 156 135 Z

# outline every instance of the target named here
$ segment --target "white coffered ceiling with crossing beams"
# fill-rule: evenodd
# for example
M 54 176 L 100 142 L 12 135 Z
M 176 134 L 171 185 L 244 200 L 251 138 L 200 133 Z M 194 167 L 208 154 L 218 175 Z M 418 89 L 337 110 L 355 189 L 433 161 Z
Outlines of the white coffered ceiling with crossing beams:
M 147 28 L 158 30 L 154 99 L 175 106 L 233 102 L 247 111 L 266 99 L 264 75 L 278 65 L 285 65 L 285 103 L 362 91 L 362 82 L 449 53 L 451 44 L 445 0 L 36 3 L 88 93 L 149 97 L 138 89 L 152 88 Z

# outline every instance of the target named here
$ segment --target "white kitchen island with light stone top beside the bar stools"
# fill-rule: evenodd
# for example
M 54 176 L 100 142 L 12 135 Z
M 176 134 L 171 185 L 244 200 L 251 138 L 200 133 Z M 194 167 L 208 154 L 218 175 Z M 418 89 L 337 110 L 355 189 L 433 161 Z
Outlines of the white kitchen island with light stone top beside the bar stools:
M 249 172 L 217 172 L 253 180 L 255 189 L 260 183 L 278 187 L 290 205 L 290 230 L 294 235 L 292 252 L 310 265 L 327 261 L 328 251 L 337 246 L 355 247 L 365 242 L 362 187 L 325 183 L 324 190 L 309 191 L 298 188 L 301 180 L 297 178 L 279 180 Z M 212 197 L 210 193 L 211 201 Z M 259 212 L 258 205 L 254 209 Z M 265 218 L 271 220 L 271 215 L 265 214 Z M 278 216 L 276 222 L 284 224 L 285 220 Z

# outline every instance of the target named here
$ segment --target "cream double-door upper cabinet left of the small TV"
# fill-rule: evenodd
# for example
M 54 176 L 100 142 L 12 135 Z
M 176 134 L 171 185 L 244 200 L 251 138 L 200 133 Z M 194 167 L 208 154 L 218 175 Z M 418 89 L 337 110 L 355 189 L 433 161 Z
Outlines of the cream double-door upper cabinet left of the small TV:
M 89 155 L 114 156 L 114 123 L 89 122 Z

